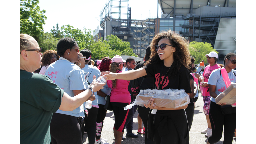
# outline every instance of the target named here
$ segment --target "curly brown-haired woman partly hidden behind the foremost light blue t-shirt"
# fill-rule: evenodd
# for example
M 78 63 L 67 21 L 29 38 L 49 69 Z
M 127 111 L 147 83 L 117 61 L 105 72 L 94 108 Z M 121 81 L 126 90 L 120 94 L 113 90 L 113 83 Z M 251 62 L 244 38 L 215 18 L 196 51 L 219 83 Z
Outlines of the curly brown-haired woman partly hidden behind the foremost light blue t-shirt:
M 42 58 L 42 68 L 39 72 L 39 74 L 44 75 L 48 66 L 59 60 L 59 56 L 57 55 L 57 52 L 55 50 L 47 50 L 43 53 L 43 58 Z

